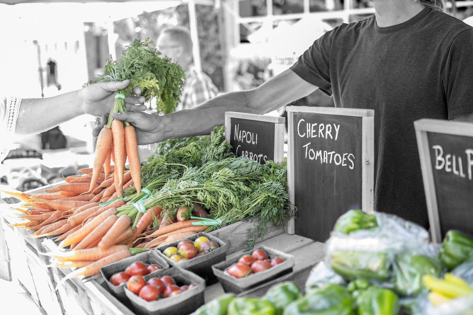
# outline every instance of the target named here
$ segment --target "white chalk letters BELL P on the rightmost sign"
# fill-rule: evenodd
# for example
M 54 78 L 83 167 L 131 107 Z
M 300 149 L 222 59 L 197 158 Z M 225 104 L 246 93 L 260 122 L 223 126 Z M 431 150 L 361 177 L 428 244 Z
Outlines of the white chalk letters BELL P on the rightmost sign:
M 433 145 L 432 149 L 435 151 L 435 169 L 436 170 L 445 170 L 448 173 L 453 173 L 456 176 L 465 178 L 466 175 L 463 169 L 463 162 L 461 156 L 456 156 L 455 154 L 445 154 L 442 146 Z M 468 173 L 468 179 L 472 180 L 473 174 L 473 149 L 466 149 L 466 169 Z

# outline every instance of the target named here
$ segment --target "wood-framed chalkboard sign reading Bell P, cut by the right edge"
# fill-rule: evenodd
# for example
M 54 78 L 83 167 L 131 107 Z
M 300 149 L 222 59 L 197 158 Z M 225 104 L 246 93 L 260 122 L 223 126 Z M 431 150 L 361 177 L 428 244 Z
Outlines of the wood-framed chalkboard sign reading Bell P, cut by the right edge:
M 414 122 L 432 241 L 448 230 L 473 235 L 473 124 Z

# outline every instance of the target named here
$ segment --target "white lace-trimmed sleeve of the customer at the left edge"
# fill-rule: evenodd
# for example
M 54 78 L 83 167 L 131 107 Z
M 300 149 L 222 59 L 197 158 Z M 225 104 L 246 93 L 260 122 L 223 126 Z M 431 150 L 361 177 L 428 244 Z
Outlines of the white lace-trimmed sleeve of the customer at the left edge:
M 20 110 L 21 98 L 8 97 L 0 98 L 1 109 L 1 144 L 0 144 L 0 162 L 5 159 L 13 144 L 13 135 L 17 126 L 18 111 Z

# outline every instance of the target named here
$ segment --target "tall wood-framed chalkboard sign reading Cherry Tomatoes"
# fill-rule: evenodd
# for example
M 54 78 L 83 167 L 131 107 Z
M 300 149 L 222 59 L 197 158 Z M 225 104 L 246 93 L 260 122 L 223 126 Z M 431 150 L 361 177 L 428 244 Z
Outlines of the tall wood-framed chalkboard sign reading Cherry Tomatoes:
M 288 232 L 324 242 L 351 209 L 373 211 L 374 111 L 289 106 Z

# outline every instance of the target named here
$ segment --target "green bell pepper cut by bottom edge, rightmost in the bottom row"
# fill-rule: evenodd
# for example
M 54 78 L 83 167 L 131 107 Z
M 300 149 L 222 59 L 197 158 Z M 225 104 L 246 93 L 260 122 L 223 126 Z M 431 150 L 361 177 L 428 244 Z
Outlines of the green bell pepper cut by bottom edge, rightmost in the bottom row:
M 399 298 L 390 289 L 375 286 L 362 291 L 357 298 L 358 315 L 397 315 Z

